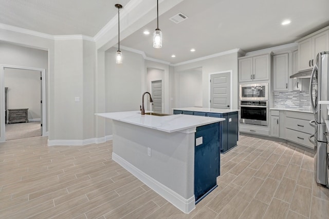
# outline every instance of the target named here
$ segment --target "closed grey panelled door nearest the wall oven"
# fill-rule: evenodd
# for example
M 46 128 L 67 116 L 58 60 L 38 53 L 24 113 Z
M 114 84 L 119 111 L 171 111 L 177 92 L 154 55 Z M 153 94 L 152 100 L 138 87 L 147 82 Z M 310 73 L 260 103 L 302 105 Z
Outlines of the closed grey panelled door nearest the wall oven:
M 210 75 L 210 108 L 230 109 L 231 107 L 230 72 Z

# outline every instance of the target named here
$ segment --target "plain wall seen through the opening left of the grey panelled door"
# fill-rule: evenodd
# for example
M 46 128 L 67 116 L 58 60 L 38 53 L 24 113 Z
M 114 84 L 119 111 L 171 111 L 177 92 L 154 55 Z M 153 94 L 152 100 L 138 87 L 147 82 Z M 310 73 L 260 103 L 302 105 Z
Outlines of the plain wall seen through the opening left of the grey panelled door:
M 178 106 L 202 107 L 202 68 L 178 73 Z

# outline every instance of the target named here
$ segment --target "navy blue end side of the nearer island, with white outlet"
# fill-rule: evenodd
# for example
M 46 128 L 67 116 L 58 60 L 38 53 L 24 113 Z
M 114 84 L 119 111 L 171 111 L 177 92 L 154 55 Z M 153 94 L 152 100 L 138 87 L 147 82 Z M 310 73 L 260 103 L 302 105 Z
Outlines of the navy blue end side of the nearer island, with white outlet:
M 196 127 L 194 150 L 194 195 L 198 203 L 217 187 L 220 170 L 220 125 L 213 123 Z

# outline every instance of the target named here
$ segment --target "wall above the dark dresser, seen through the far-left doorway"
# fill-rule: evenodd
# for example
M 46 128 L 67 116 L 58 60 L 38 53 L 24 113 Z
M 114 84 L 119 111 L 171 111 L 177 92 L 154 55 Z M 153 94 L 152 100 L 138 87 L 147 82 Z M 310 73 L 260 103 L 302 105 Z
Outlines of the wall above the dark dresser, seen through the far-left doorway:
M 7 109 L 28 108 L 29 120 L 40 121 L 40 85 L 39 71 L 5 68 L 5 87 L 8 87 Z

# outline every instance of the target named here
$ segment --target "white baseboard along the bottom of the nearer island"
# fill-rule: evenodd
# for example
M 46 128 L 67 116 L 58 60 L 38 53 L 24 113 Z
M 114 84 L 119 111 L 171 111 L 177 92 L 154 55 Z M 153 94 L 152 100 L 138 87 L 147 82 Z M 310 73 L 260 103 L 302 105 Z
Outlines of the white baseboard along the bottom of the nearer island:
M 154 180 L 151 176 L 142 172 L 129 162 L 125 161 L 122 157 L 112 152 L 112 160 L 120 164 L 124 169 L 132 173 L 136 176 L 140 181 L 142 181 L 145 185 L 149 186 L 156 193 L 165 198 L 168 202 L 173 204 L 176 208 L 181 210 L 184 213 L 190 213 L 193 209 L 195 209 L 195 197 L 194 195 L 189 199 L 185 199 L 181 195 L 177 194 L 175 191 L 171 190 L 167 186 L 159 183 Z

